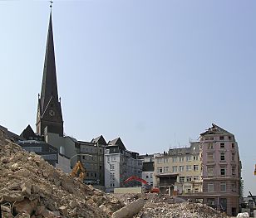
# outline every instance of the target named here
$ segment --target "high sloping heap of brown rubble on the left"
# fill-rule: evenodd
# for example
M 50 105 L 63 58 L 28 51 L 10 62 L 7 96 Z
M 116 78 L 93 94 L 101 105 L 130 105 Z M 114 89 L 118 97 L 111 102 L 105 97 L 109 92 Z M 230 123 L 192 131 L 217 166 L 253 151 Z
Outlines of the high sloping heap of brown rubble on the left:
M 27 153 L 0 131 L 3 217 L 111 217 L 124 204 Z

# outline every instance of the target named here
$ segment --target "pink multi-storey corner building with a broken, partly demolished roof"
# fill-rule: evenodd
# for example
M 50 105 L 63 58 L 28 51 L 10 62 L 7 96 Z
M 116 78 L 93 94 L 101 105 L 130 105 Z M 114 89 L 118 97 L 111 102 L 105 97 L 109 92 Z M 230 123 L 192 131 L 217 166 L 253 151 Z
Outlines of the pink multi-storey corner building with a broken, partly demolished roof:
M 241 196 L 241 162 L 234 134 L 212 124 L 200 134 L 200 145 L 202 201 L 229 216 L 236 216 Z

